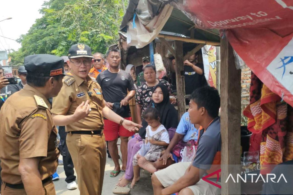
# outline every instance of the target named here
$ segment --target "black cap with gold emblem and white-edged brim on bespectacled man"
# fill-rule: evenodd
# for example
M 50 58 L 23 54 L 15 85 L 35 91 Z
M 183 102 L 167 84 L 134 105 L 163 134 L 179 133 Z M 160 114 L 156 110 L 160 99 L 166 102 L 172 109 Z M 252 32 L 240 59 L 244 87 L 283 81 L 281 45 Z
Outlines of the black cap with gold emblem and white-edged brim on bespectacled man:
M 69 58 L 94 58 L 91 54 L 91 48 L 83 43 L 72 45 L 68 51 Z

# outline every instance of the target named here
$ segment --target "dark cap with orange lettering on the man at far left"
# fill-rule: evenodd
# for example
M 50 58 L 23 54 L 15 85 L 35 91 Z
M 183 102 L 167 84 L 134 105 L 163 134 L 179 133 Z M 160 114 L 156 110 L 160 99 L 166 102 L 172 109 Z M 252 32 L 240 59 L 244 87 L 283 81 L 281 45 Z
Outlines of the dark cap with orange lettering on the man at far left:
M 25 70 L 36 76 L 52 77 L 64 75 L 64 60 L 50 54 L 36 54 L 24 58 Z

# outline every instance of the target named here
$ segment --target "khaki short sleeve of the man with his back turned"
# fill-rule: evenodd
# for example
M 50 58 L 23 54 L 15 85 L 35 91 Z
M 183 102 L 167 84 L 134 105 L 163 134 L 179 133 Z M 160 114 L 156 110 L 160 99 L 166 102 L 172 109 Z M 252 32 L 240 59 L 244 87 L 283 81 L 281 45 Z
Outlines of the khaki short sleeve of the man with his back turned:
M 46 110 L 39 108 L 21 124 L 19 136 L 20 158 L 47 156 L 47 143 L 53 128 L 47 117 Z

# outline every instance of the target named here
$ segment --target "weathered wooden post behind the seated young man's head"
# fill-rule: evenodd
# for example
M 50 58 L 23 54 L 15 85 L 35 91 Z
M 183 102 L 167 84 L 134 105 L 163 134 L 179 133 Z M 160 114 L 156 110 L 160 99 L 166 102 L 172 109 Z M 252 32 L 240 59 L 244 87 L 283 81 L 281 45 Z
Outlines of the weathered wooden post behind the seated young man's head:
M 183 43 L 182 41 L 175 41 L 175 71 L 176 71 L 176 89 L 177 89 L 177 105 L 178 116 L 181 116 L 186 112 L 185 106 L 185 82 L 183 76 L 184 64 L 183 64 Z

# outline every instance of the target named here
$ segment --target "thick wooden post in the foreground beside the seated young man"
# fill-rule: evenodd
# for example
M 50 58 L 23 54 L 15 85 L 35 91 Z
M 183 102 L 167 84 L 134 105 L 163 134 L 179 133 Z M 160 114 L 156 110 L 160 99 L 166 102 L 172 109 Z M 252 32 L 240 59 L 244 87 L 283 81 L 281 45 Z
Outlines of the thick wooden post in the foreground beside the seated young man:
M 226 178 L 231 173 L 234 178 L 240 172 L 240 119 L 241 119 L 241 70 L 236 70 L 233 49 L 226 37 L 221 39 L 221 166 L 222 193 L 240 194 L 240 183 Z

